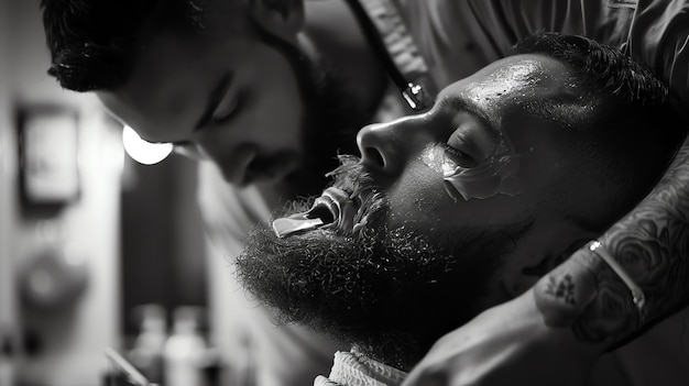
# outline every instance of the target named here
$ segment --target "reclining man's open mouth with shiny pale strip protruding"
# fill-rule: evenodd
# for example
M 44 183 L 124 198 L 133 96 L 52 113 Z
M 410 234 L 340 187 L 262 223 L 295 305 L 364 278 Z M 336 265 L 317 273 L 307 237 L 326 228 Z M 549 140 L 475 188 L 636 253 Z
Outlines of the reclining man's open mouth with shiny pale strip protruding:
M 273 221 L 273 231 L 278 238 L 316 228 L 332 229 L 349 234 L 354 229 L 359 211 L 357 199 L 342 189 L 330 187 L 316 199 L 307 212 L 295 213 Z

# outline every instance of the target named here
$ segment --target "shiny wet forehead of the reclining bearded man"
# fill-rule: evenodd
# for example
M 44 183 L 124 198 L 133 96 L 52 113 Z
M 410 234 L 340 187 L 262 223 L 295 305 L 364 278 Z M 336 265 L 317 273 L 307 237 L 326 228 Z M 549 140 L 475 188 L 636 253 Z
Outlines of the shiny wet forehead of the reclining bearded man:
M 560 129 L 571 131 L 581 122 L 591 122 L 605 101 L 581 85 L 567 64 L 540 54 L 494 62 L 445 88 L 438 100 L 444 98 L 462 100 L 488 117 L 520 153 L 531 150 L 533 141 L 542 141 L 542 136 L 566 141 L 568 134 Z

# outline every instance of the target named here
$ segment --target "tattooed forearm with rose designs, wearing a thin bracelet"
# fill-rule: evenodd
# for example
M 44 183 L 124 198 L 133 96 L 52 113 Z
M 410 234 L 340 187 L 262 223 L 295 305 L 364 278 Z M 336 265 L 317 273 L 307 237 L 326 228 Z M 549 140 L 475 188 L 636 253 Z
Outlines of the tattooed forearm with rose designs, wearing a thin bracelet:
M 599 240 L 646 296 L 641 318 L 630 289 L 589 249 L 534 288 L 548 326 L 609 346 L 654 324 L 689 299 L 689 142 L 657 187 Z

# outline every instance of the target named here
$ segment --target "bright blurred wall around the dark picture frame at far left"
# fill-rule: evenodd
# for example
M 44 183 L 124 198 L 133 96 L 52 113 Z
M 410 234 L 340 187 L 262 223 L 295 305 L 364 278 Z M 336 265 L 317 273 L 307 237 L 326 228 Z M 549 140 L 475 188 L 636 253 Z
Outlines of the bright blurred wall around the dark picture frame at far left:
M 1 1 L 1 0 L 0 0 Z M 17 274 L 50 241 L 44 224 L 57 230 L 61 243 L 76 245 L 86 258 L 87 287 L 75 304 L 45 313 L 26 310 L 0 277 L 0 320 L 19 321 L 32 332 L 35 353 L 25 350 L 15 362 L 18 385 L 98 385 L 108 363 L 106 346 L 119 345 L 119 191 L 122 151 L 119 128 L 92 96 L 62 90 L 45 70 L 45 48 L 39 0 L 2 2 L 0 24 L 6 36 L 0 58 L 0 275 Z M 15 124 L 17 107 L 58 104 L 78 113 L 80 196 L 52 214 L 26 217 L 19 207 Z M 17 284 L 17 283 L 15 283 Z M 17 294 L 14 294 L 17 295 Z M 19 307 L 14 307 L 18 305 Z M 7 385 L 0 379 L 1 385 Z

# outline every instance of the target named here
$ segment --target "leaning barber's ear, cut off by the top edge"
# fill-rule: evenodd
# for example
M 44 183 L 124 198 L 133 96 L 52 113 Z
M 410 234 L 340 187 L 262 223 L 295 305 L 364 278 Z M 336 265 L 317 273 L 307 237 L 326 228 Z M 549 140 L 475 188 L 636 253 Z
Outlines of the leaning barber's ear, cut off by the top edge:
M 263 31 L 283 40 L 304 26 L 304 0 L 248 0 L 248 10 Z

